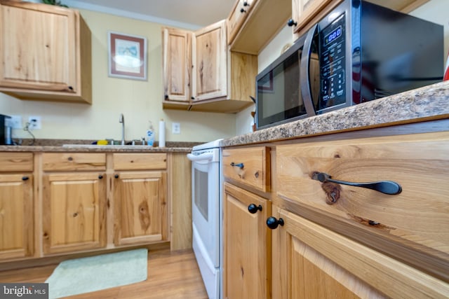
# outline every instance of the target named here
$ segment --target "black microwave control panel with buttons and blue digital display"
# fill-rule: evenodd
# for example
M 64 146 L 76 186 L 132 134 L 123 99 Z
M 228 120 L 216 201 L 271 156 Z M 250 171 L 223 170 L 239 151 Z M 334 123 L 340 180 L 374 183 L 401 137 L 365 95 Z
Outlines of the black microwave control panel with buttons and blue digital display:
M 326 28 L 321 29 L 319 33 L 321 88 L 318 107 L 316 107 L 318 111 L 346 102 L 345 32 L 343 14 Z

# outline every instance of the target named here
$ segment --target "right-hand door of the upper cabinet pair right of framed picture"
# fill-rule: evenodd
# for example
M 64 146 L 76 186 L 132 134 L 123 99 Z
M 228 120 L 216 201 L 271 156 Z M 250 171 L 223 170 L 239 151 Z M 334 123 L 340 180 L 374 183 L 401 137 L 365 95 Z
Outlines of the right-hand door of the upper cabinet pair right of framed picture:
M 195 32 L 192 53 L 193 101 L 226 97 L 226 20 Z

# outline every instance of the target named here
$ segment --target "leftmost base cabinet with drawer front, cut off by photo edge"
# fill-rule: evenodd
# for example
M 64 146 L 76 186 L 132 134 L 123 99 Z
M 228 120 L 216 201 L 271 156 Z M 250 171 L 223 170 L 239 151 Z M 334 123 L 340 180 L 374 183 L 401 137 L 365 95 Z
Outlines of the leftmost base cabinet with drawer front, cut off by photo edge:
M 32 171 L 32 153 L 0 153 L 0 260 L 34 254 Z

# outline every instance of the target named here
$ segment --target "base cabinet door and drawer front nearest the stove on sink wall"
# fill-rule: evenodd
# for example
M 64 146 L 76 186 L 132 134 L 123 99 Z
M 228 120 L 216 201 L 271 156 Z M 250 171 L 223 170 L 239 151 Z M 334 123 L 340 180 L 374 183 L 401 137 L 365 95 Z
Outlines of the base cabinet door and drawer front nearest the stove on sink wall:
M 168 241 L 166 153 L 114 153 L 114 244 Z

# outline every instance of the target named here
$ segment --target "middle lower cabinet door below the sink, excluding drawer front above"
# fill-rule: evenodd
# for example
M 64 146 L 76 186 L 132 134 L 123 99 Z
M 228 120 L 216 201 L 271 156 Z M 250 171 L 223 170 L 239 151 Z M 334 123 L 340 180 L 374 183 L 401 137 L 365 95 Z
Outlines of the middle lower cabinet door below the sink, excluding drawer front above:
M 43 253 L 104 247 L 105 174 L 43 175 Z

